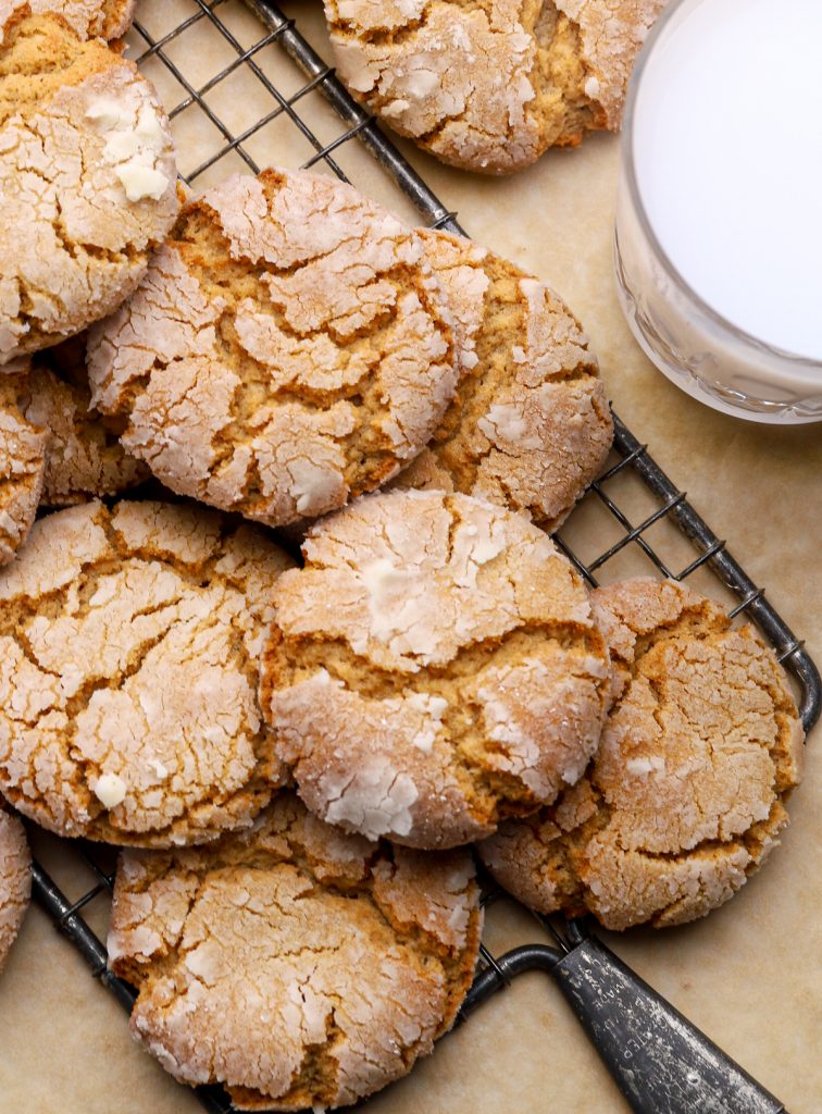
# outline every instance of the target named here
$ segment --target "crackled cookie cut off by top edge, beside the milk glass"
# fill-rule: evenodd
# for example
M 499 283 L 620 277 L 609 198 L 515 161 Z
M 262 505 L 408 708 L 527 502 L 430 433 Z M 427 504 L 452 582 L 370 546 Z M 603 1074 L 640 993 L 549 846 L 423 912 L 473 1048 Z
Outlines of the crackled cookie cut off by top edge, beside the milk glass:
M 665 0 L 325 0 L 337 72 L 444 163 L 508 174 L 617 128 Z

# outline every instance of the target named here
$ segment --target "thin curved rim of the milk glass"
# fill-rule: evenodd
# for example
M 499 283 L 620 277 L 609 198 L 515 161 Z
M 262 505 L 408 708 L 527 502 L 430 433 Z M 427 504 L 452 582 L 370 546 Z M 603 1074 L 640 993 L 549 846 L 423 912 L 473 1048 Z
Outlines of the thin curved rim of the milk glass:
M 622 172 L 624 180 L 627 185 L 628 196 L 634 208 L 634 214 L 643 235 L 650 244 L 650 247 L 659 260 L 663 270 L 667 273 L 668 277 L 676 284 L 676 286 L 678 286 L 679 290 L 695 303 L 697 309 L 705 314 L 706 317 L 708 317 L 710 321 L 728 333 L 734 340 L 748 344 L 751 348 L 765 352 L 769 355 L 776 356 L 780 360 L 785 360 L 790 362 L 794 369 L 808 369 L 810 371 L 819 372 L 820 368 L 822 368 L 822 356 L 800 355 L 799 352 L 791 352 L 787 349 L 779 348 L 775 344 L 769 344 L 767 341 L 763 341 L 761 338 L 754 336 L 753 333 L 748 333 L 740 325 L 735 325 L 733 321 L 730 321 L 708 302 L 706 302 L 673 263 L 669 255 L 659 243 L 656 232 L 648 219 L 648 214 L 639 190 L 639 183 L 637 180 L 636 165 L 634 160 L 634 115 L 636 100 L 639 96 L 642 79 L 645 75 L 645 70 L 647 69 L 648 59 L 653 53 L 653 49 L 657 40 L 665 33 L 668 23 L 674 19 L 676 13 L 685 4 L 694 4 L 695 2 L 704 3 L 705 0 L 669 0 L 665 11 L 663 11 L 657 18 L 648 32 L 630 75 L 630 80 L 628 81 L 628 89 L 625 97 L 625 110 L 623 113 L 620 156 Z

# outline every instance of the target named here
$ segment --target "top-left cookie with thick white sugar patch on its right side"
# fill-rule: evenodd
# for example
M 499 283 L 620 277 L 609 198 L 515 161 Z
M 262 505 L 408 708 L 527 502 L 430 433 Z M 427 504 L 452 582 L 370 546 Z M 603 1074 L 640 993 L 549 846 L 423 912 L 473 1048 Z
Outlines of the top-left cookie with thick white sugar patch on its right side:
M 0 10 L 0 363 L 110 313 L 177 212 L 151 86 L 100 39 L 25 12 Z

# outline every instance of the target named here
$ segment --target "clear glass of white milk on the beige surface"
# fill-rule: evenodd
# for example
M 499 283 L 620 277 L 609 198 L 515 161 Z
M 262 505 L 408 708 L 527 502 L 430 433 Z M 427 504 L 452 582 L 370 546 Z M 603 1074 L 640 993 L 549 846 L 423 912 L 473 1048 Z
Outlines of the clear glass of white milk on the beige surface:
M 672 0 L 628 91 L 615 265 L 668 379 L 822 421 L 822 0 Z

